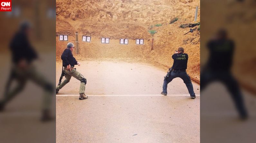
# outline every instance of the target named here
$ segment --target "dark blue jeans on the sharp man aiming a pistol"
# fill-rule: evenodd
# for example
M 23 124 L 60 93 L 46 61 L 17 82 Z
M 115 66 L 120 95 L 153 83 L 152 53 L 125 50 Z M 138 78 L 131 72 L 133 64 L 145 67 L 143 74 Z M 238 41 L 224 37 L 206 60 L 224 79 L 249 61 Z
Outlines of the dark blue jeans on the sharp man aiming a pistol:
M 179 77 L 183 80 L 183 82 L 186 84 L 188 92 L 191 95 L 195 95 L 193 85 L 191 83 L 190 77 L 187 75 L 186 71 L 172 71 L 170 76 L 164 80 L 163 84 L 163 92 L 167 93 L 167 84 L 170 83 L 174 78 Z

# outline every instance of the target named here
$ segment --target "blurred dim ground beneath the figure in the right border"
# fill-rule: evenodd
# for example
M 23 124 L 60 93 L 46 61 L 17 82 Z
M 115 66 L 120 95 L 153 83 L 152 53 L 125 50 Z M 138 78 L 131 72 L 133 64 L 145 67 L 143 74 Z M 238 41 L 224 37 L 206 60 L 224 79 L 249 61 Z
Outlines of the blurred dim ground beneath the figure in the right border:
M 232 98 L 223 84 L 215 82 L 202 91 L 200 99 L 201 142 L 255 142 L 255 94 L 246 91 L 242 91 L 242 94 L 249 113 L 246 121 L 239 120 Z

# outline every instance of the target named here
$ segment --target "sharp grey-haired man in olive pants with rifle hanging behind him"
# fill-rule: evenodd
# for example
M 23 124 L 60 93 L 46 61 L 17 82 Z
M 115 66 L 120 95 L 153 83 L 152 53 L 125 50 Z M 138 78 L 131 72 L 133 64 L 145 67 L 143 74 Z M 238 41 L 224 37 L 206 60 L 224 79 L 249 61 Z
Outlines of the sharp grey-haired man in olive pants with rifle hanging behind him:
M 62 59 L 62 66 L 64 67 L 64 71 L 66 73 L 66 79 L 56 87 L 56 93 L 59 92 L 60 89 L 62 89 L 63 86 L 65 86 L 71 79 L 71 76 L 81 81 L 80 84 L 80 90 L 79 90 L 79 99 L 87 99 L 88 96 L 84 94 L 85 90 L 85 84 L 86 84 L 86 78 L 83 77 L 81 73 L 76 71 L 76 68 L 74 68 L 75 65 L 80 66 L 80 63 L 76 61 L 76 59 L 73 57 L 73 50 L 74 50 L 74 44 L 68 43 L 67 49 L 64 50 L 62 53 L 61 59 Z

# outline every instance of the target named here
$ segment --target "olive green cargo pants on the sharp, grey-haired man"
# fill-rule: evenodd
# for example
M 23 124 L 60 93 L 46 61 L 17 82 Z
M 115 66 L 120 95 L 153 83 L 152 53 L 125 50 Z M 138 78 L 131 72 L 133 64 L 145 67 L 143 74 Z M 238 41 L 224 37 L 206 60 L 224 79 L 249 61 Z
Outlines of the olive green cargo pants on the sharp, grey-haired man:
M 78 79 L 79 81 L 81 81 L 82 79 L 85 79 L 81 73 L 76 71 L 76 68 L 72 69 L 71 71 L 67 71 L 66 68 L 65 68 L 64 71 L 66 73 L 66 76 L 65 76 L 66 79 L 63 82 L 61 82 L 61 84 L 59 86 L 56 87 L 56 89 L 58 91 L 60 89 L 62 89 L 62 87 L 64 87 L 67 83 L 69 83 L 72 76 L 74 78 Z M 84 91 L 85 91 L 85 83 L 81 81 L 79 93 L 84 93 Z

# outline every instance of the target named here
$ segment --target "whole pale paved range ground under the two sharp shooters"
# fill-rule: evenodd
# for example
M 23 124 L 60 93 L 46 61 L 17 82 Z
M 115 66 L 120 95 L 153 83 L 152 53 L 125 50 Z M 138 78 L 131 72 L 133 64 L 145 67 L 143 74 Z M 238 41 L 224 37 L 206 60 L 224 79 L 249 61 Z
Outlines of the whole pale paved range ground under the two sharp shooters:
M 200 96 L 191 99 L 181 79 L 169 83 L 168 95 L 163 96 L 166 71 L 151 65 L 82 61 L 75 68 L 87 78 L 89 98 L 78 99 L 80 81 L 75 78 L 59 91 L 58 143 L 200 142 Z M 61 63 L 56 73 L 59 77 Z M 199 95 L 199 85 L 193 86 Z

